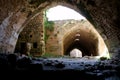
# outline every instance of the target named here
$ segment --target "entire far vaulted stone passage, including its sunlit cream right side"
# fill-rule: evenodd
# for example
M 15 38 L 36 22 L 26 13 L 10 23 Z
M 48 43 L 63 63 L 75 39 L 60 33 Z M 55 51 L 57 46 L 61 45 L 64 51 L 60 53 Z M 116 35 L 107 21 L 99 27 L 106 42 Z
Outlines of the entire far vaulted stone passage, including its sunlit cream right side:
M 82 56 L 106 56 L 109 57 L 109 52 L 104 40 L 95 30 L 89 26 L 77 26 L 66 33 L 63 38 L 63 54 L 70 55 L 70 51 L 74 48 L 82 51 Z

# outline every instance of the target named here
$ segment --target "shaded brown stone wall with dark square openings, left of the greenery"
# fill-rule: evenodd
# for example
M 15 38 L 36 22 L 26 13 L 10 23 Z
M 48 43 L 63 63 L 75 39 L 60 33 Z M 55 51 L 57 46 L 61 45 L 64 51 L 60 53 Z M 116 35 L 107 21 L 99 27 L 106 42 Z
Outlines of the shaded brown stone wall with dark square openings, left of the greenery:
M 43 21 L 42 15 L 38 15 L 31 20 L 20 33 L 15 53 L 25 54 L 25 44 L 31 43 L 30 54 L 40 56 L 42 54 Z

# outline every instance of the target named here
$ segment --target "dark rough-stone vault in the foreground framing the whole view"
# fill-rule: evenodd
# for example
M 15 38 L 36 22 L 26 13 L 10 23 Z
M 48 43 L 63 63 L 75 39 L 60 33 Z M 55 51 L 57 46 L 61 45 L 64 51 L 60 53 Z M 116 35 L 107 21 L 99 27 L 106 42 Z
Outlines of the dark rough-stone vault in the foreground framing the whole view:
M 105 34 L 110 51 L 119 47 L 119 0 L 1 0 L 0 53 L 13 53 L 25 25 L 38 14 L 42 16 L 44 9 L 58 4 L 78 11 Z

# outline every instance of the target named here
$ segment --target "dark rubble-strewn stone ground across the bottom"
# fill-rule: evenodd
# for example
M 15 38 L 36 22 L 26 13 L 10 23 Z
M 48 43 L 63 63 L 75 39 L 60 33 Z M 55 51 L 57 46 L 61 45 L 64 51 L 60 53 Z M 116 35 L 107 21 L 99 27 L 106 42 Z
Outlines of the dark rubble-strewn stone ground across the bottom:
M 83 58 L 29 58 L 14 54 L 0 54 L 0 71 L 18 77 L 44 79 L 120 80 L 119 59 Z M 7 71 L 7 72 L 6 72 Z M 3 75 L 4 75 L 3 74 Z

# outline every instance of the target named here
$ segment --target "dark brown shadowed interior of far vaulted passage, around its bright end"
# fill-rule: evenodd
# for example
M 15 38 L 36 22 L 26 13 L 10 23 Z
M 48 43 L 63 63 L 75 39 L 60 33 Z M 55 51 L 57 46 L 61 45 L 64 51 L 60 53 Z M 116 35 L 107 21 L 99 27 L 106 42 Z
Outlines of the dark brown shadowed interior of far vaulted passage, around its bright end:
M 76 33 L 76 32 L 75 32 Z M 69 54 L 69 52 L 74 49 L 78 48 L 82 51 L 83 56 L 85 55 L 98 55 L 98 39 L 91 38 L 89 33 L 85 33 L 84 31 L 80 31 L 80 36 L 76 36 L 76 34 L 70 34 L 69 37 L 67 37 L 64 42 L 65 46 L 65 54 Z M 72 37 L 72 38 L 70 38 Z

